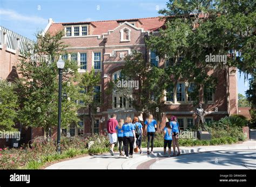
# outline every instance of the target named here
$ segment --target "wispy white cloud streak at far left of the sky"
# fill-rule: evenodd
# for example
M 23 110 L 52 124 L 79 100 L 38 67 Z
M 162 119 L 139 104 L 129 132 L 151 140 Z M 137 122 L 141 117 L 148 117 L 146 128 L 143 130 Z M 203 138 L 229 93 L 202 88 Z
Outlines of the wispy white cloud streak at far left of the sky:
M 13 21 L 26 21 L 34 24 L 47 24 L 48 20 L 37 16 L 25 16 L 10 9 L 0 9 L 1 19 Z

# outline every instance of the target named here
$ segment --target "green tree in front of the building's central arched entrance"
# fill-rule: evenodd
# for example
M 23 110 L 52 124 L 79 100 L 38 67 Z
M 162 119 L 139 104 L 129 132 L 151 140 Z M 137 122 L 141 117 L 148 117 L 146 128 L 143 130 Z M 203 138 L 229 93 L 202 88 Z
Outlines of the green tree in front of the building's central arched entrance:
M 169 75 L 166 74 L 165 69 L 151 67 L 150 63 L 144 59 L 143 54 L 138 51 L 127 55 L 125 62 L 122 77 L 109 84 L 111 92 L 113 90 L 119 92 L 119 95 L 127 100 L 130 99 L 130 95 L 133 95 L 133 99 L 129 101 L 134 109 L 143 112 L 144 120 L 151 113 L 160 122 L 161 111 L 164 107 L 164 90 L 172 84 Z M 118 81 L 122 79 L 138 81 L 138 89 L 117 87 Z

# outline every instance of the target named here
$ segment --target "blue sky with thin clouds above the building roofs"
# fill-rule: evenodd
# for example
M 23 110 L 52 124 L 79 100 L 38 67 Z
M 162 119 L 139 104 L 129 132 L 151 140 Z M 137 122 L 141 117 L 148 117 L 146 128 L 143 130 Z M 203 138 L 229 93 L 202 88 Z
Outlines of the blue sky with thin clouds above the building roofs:
M 167 0 L 0 0 L 0 25 L 35 40 L 52 18 L 55 23 L 159 16 Z M 238 73 L 238 93 L 248 81 Z M 239 78 L 240 77 L 240 78 Z

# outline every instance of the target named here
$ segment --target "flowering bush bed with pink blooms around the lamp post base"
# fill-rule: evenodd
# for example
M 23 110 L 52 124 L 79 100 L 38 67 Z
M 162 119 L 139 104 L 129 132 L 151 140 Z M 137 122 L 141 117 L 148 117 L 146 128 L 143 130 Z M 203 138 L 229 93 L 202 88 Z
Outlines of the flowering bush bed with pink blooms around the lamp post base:
M 94 145 L 88 149 L 89 141 Z M 106 136 L 86 134 L 82 136 L 63 136 L 60 139 L 62 154 L 56 152 L 56 139 L 45 139 L 38 136 L 29 145 L 21 148 L 0 149 L 0 169 L 39 169 L 45 163 L 66 159 L 76 155 L 87 153 L 103 153 L 108 150 L 109 142 Z

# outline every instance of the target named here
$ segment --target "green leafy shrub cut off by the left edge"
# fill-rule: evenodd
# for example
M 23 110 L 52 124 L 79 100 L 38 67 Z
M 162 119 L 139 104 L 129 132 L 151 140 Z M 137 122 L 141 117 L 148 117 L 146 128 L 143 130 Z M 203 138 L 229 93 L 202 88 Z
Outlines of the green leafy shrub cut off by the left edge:
M 15 131 L 17 118 L 18 97 L 15 85 L 11 82 L 0 81 L 0 131 Z

